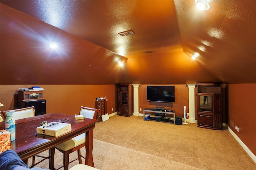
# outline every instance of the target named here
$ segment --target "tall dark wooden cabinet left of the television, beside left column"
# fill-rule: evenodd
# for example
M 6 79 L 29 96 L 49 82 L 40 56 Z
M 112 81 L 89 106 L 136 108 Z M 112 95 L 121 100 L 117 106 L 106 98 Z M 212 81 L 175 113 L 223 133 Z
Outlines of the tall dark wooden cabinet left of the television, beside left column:
M 117 86 L 117 115 L 131 116 L 133 114 L 132 84 L 116 84 Z

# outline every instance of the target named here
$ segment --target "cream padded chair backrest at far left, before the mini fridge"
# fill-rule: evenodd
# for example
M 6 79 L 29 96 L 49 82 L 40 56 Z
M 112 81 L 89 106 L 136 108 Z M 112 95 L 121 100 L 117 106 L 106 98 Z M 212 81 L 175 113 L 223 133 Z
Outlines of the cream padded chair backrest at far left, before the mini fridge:
M 9 111 L 13 111 L 13 110 L 6 110 L 6 111 L 1 111 L 1 114 L 4 115 L 4 117 L 6 118 L 6 113 Z M 27 118 L 27 117 L 33 117 L 35 116 L 35 107 L 34 106 L 30 106 L 30 107 L 25 107 L 25 108 L 21 108 L 21 109 L 14 109 L 14 118 L 15 120 L 18 119 L 23 119 L 23 118 Z

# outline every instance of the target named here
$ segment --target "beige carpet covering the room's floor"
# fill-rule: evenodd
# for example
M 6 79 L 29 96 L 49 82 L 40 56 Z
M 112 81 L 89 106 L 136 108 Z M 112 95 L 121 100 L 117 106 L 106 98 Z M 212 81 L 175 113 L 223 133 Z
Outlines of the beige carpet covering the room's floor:
M 256 163 L 228 130 L 143 121 L 141 116 L 114 115 L 96 123 L 93 157 L 101 170 L 256 170 Z M 62 164 L 58 150 L 55 162 L 56 167 Z M 78 161 L 70 167 L 74 164 Z M 47 168 L 48 162 L 38 166 Z

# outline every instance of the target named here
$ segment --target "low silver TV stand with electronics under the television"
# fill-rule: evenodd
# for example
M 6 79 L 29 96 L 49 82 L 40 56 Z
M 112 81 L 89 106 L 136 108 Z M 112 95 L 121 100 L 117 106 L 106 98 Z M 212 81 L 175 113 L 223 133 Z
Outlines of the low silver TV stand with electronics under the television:
M 150 116 L 148 119 L 150 121 L 173 123 L 175 125 L 175 111 L 156 111 L 155 108 L 146 108 L 143 109 L 143 120 L 145 120 L 145 116 Z

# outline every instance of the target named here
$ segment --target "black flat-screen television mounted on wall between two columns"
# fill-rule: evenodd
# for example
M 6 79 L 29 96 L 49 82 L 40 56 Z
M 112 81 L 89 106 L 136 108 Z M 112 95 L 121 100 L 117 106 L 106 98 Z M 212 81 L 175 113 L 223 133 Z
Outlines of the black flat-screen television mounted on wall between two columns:
M 147 101 L 175 102 L 175 86 L 147 86 Z

